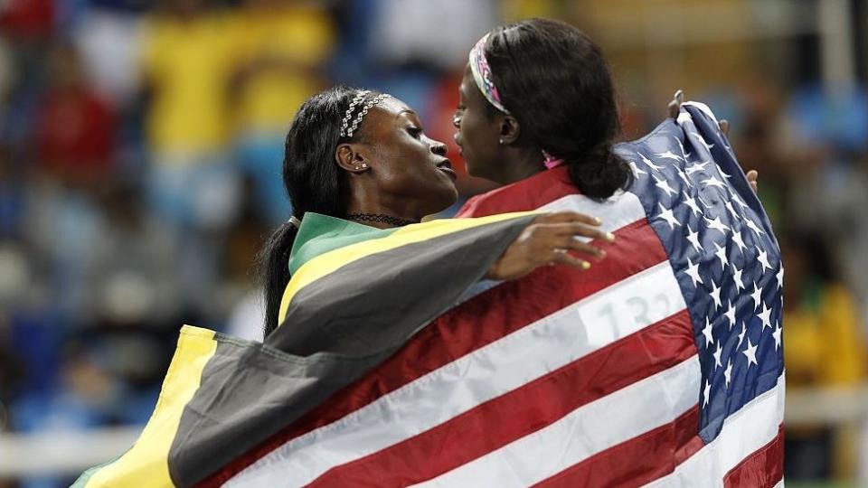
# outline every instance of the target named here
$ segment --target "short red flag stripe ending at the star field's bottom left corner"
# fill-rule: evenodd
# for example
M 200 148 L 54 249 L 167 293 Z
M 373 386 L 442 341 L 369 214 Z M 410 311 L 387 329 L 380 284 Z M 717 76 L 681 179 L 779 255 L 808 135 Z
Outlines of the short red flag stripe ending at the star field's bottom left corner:
M 675 471 L 681 458 L 704 445 L 699 431 L 699 406 L 675 421 L 649 430 L 618 446 L 593 455 L 534 486 L 641 486 Z

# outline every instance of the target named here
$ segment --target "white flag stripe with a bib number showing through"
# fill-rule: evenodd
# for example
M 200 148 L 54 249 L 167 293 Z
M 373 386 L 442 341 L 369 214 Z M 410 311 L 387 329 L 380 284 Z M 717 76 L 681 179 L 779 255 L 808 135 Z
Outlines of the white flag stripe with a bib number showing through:
M 227 485 L 311 483 L 334 466 L 436 427 L 685 306 L 664 261 L 288 441 Z

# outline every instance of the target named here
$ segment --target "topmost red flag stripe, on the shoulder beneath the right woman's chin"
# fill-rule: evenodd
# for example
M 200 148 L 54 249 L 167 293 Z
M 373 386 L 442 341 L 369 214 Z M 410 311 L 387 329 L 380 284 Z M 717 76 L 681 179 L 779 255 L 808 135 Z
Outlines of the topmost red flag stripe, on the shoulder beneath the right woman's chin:
M 538 209 L 567 195 L 578 195 L 566 166 L 542 171 L 520 182 L 476 195 L 458 211 L 457 217 L 485 217 L 511 211 Z

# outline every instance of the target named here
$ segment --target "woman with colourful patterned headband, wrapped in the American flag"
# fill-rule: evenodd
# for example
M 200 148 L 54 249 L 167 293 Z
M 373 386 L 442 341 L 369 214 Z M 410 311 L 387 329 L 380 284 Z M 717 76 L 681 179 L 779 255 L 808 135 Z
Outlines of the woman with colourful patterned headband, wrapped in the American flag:
M 469 174 L 509 184 L 565 165 L 572 185 L 595 199 L 629 185 L 627 162 L 612 152 L 620 123 L 609 69 L 575 27 L 547 19 L 496 27 L 470 52 L 459 91 L 453 124 Z M 460 214 L 477 215 L 479 201 Z

